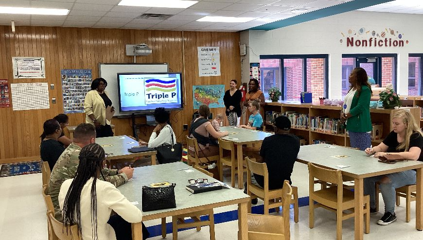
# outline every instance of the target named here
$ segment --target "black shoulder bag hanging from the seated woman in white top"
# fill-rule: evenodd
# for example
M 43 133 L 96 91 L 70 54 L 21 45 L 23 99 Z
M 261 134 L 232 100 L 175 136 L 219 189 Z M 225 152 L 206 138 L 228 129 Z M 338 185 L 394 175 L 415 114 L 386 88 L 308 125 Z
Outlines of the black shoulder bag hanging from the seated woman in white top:
M 171 163 L 171 162 L 179 162 L 182 160 L 182 144 L 176 142 L 173 138 L 173 130 L 171 127 L 166 126 L 170 129 L 170 134 L 172 137 L 172 145 L 164 145 L 156 147 L 157 150 L 157 160 L 160 164 L 163 163 Z

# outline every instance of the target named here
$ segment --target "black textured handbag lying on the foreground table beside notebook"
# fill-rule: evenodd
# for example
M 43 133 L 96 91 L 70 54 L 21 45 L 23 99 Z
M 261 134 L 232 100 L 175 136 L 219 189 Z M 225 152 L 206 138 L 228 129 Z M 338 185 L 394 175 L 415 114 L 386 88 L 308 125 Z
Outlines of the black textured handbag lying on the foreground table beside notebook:
M 175 186 L 175 183 L 159 188 L 142 186 L 142 211 L 175 208 Z

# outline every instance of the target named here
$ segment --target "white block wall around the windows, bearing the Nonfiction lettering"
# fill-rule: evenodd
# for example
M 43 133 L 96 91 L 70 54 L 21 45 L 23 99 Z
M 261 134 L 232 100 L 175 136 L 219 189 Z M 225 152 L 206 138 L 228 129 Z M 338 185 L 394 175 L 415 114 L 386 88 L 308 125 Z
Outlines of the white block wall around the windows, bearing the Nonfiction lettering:
M 408 53 L 423 53 L 422 27 L 423 15 L 352 11 L 270 31 L 245 31 L 241 44 L 249 48 L 242 64 L 242 82 L 248 82 L 249 63 L 259 62 L 263 54 L 329 54 L 329 97 L 335 99 L 341 97 L 342 54 L 397 53 L 397 91 L 407 95 Z M 347 47 L 348 30 L 358 32 L 360 28 L 370 31 L 362 34 L 363 39 L 369 39 L 373 30 L 380 34 L 393 29 L 409 43 L 404 47 Z M 352 36 L 355 41 L 362 35 Z M 389 40 L 389 36 L 385 37 Z

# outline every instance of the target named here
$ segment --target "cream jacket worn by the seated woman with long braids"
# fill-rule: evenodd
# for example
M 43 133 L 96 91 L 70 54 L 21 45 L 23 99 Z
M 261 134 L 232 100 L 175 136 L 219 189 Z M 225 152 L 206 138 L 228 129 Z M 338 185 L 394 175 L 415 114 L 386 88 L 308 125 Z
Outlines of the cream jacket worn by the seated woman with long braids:
M 59 206 L 63 210 L 66 194 L 73 178 L 63 182 L 59 192 Z M 82 239 L 92 240 L 91 226 L 91 185 L 90 178 L 81 191 L 81 231 Z M 112 209 L 129 223 L 139 223 L 142 220 L 141 210 L 131 204 L 116 187 L 106 181 L 97 179 L 97 234 L 99 240 L 116 240 L 113 228 L 107 224 Z

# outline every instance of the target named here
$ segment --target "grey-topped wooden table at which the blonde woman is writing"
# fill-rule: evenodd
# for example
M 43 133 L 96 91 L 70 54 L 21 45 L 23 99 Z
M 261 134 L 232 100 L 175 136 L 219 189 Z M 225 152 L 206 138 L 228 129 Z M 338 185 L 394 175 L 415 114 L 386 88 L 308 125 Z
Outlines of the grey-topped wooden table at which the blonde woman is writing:
M 379 176 L 393 172 L 417 170 L 417 196 L 416 196 L 416 229 L 423 229 L 423 209 L 422 209 L 422 168 L 421 161 L 406 161 L 397 162 L 395 164 L 386 164 L 378 162 L 378 158 L 369 156 L 364 151 L 336 146 L 336 148 L 328 148 L 334 146 L 329 144 L 313 144 L 300 147 L 300 153 L 297 156 L 297 161 L 307 164 L 312 162 L 314 164 L 323 166 L 329 169 L 339 169 L 337 165 L 349 166 L 340 169 L 342 175 L 354 178 L 354 199 L 355 199 L 355 232 L 356 240 L 363 239 L 363 179 L 366 177 Z M 318 154 L 316 154 L 318 153 Z M 335 155 L 347 155 L 346 158 L 334 158 Z

